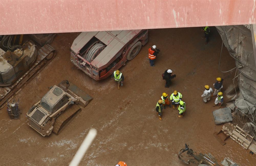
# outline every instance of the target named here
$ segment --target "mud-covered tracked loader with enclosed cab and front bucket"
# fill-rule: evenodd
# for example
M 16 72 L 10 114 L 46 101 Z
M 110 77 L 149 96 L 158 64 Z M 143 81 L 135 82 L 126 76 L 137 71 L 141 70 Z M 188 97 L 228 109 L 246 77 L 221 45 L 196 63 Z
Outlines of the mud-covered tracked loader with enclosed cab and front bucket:
M 64 80 L 28 110 L 28 125 L 42 136 L 58 135 L 81 111 L 78 104 L 85 107 L 91 100 L 89 94 Z

